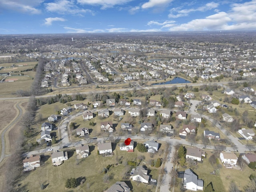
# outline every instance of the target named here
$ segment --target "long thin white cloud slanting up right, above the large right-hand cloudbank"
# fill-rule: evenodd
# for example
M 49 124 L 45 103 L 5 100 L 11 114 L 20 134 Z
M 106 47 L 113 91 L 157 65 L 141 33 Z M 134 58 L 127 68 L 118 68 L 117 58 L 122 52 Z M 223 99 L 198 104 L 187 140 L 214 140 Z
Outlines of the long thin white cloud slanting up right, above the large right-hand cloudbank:
M 168 15 L 168 17 L 169 18 L 178 18 L 178 17 L 188 16 L 188 14 L 190 12 L 196 12 L 196 11 L 205 12 L 205 11 L 208 11 L 208 10 L 215 9 L 218 6 L 219 6 L 218 3 L 210 2 L 210 3 L 205 4 L 204 6 L 200 6 L 198 8 L 194 8 L 194 9 L 180 10 L 180 8 L 172 8 L 170 10 L 170 14 Z M 174 13 L 176 13 L 176 14 L 174 14 Z

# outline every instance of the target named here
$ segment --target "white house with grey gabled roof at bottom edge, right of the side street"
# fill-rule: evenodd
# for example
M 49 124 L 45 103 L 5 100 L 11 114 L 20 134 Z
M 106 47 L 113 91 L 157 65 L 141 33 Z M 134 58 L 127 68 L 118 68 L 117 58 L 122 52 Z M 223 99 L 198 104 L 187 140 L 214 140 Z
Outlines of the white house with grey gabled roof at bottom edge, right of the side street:
M 186 169 L 184 172 L 183 186 L 188 190 L 202 191 L 204 188 L 204 181 L 198 179 L 197 174 L 195 174 L 191 169 Z

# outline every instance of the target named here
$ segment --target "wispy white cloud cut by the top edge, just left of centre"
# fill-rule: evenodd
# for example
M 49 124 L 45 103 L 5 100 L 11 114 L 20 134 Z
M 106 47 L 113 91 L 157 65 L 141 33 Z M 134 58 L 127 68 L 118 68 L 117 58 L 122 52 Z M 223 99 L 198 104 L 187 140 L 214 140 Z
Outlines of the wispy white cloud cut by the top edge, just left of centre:
M 80 4 L 100 5 L 102 9 L 111 8 L 115 5 L 122 5 L 132 0 L 77 0 Z

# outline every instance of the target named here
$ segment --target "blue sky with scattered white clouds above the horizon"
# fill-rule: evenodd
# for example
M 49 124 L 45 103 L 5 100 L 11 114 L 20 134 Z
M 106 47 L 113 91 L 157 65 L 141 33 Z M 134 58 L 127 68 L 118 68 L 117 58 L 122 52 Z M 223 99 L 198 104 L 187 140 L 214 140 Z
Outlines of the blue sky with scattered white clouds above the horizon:
M 0 0 L 0 34 L 256 30 L 256 0 Z

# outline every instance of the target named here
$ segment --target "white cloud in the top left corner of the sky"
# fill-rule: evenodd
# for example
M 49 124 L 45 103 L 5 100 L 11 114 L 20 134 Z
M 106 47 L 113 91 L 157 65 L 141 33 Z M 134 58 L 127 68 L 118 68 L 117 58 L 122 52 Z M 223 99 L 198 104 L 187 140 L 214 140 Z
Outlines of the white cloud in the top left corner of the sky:
M 39 6 L 43 0 L 0 0 L 0 9 L 15 10 L 22 13 L 40 14 L 41 10 L 35 8 Z

